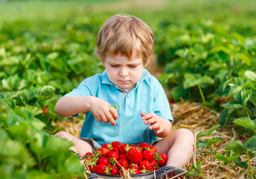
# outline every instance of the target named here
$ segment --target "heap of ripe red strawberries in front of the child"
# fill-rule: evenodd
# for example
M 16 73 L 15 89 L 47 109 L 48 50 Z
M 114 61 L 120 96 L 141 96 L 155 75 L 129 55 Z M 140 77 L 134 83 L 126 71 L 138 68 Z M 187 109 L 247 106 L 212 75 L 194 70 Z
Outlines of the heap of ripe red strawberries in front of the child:
M 147 173 L 164 166 L 167 161 L 165 153 L 159 153 L 154 146 L 140 143 L 138 146 L 114 141 L 102 145 L 94 154 L 85 154 L 84 164 L 88 170 L 98 174 L 129 175 Z

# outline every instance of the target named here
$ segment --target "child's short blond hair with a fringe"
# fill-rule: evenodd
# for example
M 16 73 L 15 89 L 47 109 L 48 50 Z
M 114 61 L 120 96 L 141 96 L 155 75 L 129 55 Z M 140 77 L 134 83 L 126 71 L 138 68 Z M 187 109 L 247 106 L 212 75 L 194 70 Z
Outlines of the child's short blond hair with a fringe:
M 97 36 L 95 56 L 105 62 L 106 56 L 124 55 L 131 59 L 132 52 L 137 50 L 147 65 L 153 54 L 154 35 L 141 19 L 131 15 L 115 15 L 102 25 Z

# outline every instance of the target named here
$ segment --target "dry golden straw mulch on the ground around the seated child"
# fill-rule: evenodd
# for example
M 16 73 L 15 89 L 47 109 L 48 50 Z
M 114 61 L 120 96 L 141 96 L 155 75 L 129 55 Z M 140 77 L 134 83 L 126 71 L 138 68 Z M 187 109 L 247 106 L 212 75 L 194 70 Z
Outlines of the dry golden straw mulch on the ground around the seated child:
M 181 102 L 175 103 L 171 106 L 172 115 L 174 118 L 173 122 L 173 131 L 179 128 L 187 128 L 191 130 L 196 136 L 201 131 L 207 131 L 211 126 L 218 124 L 218 113 L 216 111 L 211 110 L 208 107 L 205 107 L 201 104 L 190 103 L 190 102 Z M 80 130 L 82 127 L 84 120 L 80 119 L 69 119 L 69 121 L 61 121 L 58 122 L 57 125 L 65 129 L 67 132 L 70 132 L 76 137 L 79 137 Z M 237 139 L 236 133 L 233 129 L 217 129 L 217 133 L 212 137 L 222 137 L 223 141 L 214 144 L 214 150 L 219 154 L 225 154 L 225 144 L 230 141 Z M 195 143 L 199 140 L 209 140 L 209 137 L 201 137 L 196 139 Z M 201 161 L 201 172 L 208 179 L 226 179 L 229 178 L 229 168 L 223 162 L 217 161 L 214 159 L 214 156 L 208 154 L 204 156 L 200 149 L 195 146 L 193 157 L 191 158 L 189 164 L 186 167 L 188 170 L 191 170 L 191 165 L 195 161 Z M 246 160 L 246 156 L 242 156 L 242 160 Z M 252 167 L 256 168 L 256 157 L 251 159 Z M 243 179 L 247 178 L 244 174 L 247 174 L 250 178 L 250 174 L 248 171 L 244 171 L 244 169 L 240 167 L 234 167 L 231 171 L 231 178 Z M 243 173 L 241 175 L 240 173 Z M 190 178 L 202 178 L 202 177 L 190 177 Z

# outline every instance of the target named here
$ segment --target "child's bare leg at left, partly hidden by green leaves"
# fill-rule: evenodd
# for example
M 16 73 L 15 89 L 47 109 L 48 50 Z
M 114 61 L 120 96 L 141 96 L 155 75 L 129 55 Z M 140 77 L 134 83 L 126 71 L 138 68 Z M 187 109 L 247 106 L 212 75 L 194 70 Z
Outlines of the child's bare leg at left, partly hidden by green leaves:
M 60 136 L 62 138 L 66 138 L 69 141 L 71 141 L 74 144 L 74 146 L 70 147 L 70 149 L 75 151 L 76 153 L 80 154 L 82 159 L 84 159 L 84 156 L 87 152 L 91 152 L 91 153 L 93 152 L 93 147 L 90 144 L 88 144 L 84 140 L 81 140 L 81 139 L 71 135 L 70 133 L 68 133 L 66 131 L 60 131 L 60 132 L 56 133 L 55 136 Z

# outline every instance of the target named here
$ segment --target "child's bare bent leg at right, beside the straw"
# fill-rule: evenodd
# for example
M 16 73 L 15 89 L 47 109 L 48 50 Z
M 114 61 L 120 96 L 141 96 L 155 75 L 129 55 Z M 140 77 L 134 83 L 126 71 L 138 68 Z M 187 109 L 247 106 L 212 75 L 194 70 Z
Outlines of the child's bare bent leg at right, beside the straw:
M 193 154 L 194 135 L 187 129 L 179 129 L 157 142 L 154 146 L 160 153 L 166 153 L 166 166 L 182 167 Z

